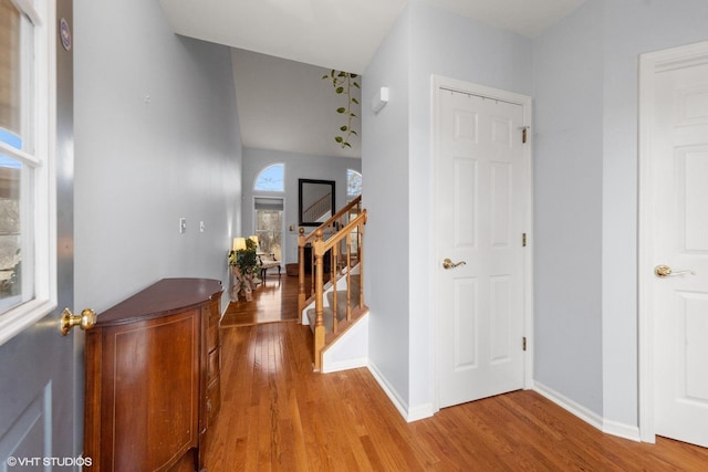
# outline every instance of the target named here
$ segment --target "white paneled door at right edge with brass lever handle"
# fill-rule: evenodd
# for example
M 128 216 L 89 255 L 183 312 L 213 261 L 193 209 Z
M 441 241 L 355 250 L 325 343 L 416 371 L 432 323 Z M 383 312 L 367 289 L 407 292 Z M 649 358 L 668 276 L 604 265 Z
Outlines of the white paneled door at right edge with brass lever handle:
M 648 141 L 656 434 L 708 447 L 708 63 L 657 67 Z M 644 274 L 647 276 L 647 274 Z

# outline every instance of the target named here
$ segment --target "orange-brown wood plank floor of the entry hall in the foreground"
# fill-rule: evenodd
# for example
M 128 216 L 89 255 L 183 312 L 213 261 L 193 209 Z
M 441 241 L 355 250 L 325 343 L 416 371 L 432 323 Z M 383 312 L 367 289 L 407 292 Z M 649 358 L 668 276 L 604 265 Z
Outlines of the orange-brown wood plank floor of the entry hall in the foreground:
M 371 373 L 314 374 L 296 323 L 221 329 L 221 471 L 708 471 L 708 449 L 637 443 L 517 391 L 406 423 Z

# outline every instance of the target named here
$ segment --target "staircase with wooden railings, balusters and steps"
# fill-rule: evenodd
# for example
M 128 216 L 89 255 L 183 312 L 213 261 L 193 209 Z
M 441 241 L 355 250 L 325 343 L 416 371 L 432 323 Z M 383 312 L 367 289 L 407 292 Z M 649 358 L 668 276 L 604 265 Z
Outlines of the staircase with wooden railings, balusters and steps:
M 323 369 L 325 352 L 347 334 L 352 336 L 351 328 L 367 319 L 368 307 L 364 304 L 362 290 L 365 224 L 366 210 L 362 210 L 358 197 L 310 234 L 300 229 L 300 323 L 309 324 L 314 335 L 316 371 Z M 304 256 L 308 245 L 312 249 L 311 261 Z M 305 277 L 306 264 L 312 274 L 310 283 Z M 329 268 L 326 273 L 325 266 Z

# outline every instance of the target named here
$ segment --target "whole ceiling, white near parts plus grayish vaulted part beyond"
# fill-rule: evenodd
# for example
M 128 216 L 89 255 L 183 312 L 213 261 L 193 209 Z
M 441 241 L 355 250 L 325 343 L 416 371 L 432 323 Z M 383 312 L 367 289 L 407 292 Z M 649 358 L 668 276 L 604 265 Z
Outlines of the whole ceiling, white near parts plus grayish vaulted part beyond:
M 535 38 L 586 0 L 424 1 Z M 334 0 L 159 3 L 176 33 L 238 49 L 235 81 L 246 147 L 361 156 L 358 146 L 342 149 L 334 143 L 340 124 L 329 129 L 341 105 L 320 77 L 330 69 L 361 74 L 407 0 L 353 0 L 352 7 Z M 350 31 L 355 33 L 343 33 Z M 327 96 L 324 103 L 320 93 Z

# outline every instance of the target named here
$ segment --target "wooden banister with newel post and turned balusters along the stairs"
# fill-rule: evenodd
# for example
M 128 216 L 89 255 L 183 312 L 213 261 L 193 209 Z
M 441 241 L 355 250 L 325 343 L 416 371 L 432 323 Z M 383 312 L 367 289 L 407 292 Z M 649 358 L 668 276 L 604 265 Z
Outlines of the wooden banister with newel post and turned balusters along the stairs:
M 354 218 L 352 216 L 355 214 Z M 322 353 L 331 339 L 345 329 L 341 325 L 348 326 L 353 319 L 353 314 L 361 314 L 365 311 L 364 304 L 364 225 L 366 224 L 366 210 L 361 208 L 361 197 L 352 200 L 347 206 L 337 211 L 330 220 L 325 221 L 310 234 L 304 234 L 304 229 L 300 229 L 298 239 L 299 245 L 299 321 L 302 323 L 303 311 L 314 302 L 314 319 L 310 324 L 314 333 L 314 369 L 322 368 Z M 355 238 L 353 244 L 353 238 Z M 305 247 L 312 249 L 311 261 L 305 261 Z M 325 260 L 330 263 L 327 272 L 329 283 L 332 286 L 331 307 L 326 311 L 326 316 L 332 317 L 332 323 L 325 323 Z M 310 284 L 310 297 L 305 290 L 305 264 L 311 264 L 310 273 L 312 281 Z M 352 270 L 356 268 L 358 281 L 358 294 L 352 300 Z M 337 282 L 345 277 L 346 295 L 345 308 L 341 318 L 337 303 Z M 311 312 L 312 313 L 312 312 Z M 327 333 L 327 324 L 331 328 Z

